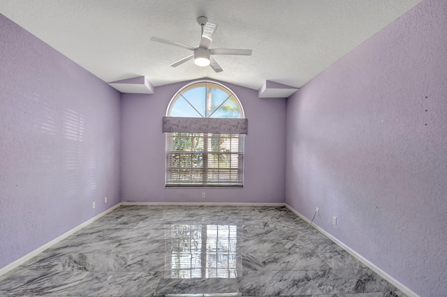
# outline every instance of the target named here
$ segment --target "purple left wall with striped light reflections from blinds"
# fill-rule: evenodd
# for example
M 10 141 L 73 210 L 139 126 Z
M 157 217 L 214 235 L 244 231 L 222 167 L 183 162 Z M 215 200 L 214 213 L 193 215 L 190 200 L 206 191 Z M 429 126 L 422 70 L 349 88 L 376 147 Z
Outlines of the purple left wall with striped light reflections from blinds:
M 119 109 L 119 92 L 0 15 L 0 268 L 119 203 Z

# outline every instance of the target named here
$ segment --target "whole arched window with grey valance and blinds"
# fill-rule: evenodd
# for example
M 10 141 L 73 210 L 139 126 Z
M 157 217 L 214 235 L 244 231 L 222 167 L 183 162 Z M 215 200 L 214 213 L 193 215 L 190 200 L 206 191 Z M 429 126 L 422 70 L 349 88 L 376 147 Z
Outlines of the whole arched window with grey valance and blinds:
M 240 188 L 247 119 L 235 94 L 216 82 L 180 89 L 163 118 L 167 187 Z

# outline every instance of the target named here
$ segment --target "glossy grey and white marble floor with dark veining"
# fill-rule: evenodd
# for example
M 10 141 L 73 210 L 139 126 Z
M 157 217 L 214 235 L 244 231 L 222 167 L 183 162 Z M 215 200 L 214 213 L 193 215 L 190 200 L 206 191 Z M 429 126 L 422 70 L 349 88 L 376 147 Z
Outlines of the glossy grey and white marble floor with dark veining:
M 1 276 L 0 297 L 404 296 L 305 226 L 284 207 L 121 206 Z

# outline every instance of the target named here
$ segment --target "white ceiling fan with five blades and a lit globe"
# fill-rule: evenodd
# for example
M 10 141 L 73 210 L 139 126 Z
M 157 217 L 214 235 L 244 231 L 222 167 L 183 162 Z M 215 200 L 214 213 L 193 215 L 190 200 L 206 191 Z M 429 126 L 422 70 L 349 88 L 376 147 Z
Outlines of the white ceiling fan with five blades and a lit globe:
M 165 43 L 166 45 L 174 45 L 175 47 L 182 47 L 186 50 L 190 50 L 193 53 L 185 56 L 179 61 L 176 61 L 170 64 L 171 67 L 177 67 L 182 63 L 194 59 L 194 63 L 197 66 L 205 67 L 211 66 L 211 68 L 220 73 L 222 70 L 221 66 L 213 59 L 212 55 L 226 54 L 226 55 L 237 55 L 237 56 L 251 56 L 251 50 L 240 50 L 240 49 L 210 49 L 210 45 L 212 42 L 212 35 L 217 29 L 217 24 L 212 22 L 208 22 L 206 17 L 198 17 L 198 24 L 202 27 L 202 38 L 200 39 L 200 44 L 198 47 L 191 47 L 189 45 L 184 45 L 182 43 L 176 43 L 174 41 L 170 41 L 164 38 L 159 38 L 153 36 L 151 38 L 152 41 L 156 41 L 157 43 Z

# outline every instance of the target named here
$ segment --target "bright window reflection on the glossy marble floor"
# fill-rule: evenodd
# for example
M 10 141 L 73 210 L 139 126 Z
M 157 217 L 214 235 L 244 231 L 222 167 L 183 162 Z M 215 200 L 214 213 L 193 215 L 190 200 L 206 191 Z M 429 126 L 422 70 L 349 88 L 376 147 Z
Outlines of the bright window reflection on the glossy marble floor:
M 237 257 L 237 226 L 232 224 L 171 224 L 167 230 L 166 277 L 234 278 L 242 266 Z M 239 270 L 242 270 L 241 268 Z

